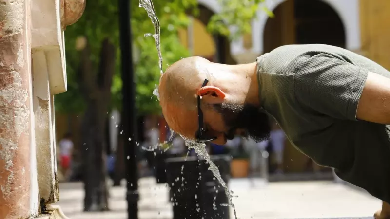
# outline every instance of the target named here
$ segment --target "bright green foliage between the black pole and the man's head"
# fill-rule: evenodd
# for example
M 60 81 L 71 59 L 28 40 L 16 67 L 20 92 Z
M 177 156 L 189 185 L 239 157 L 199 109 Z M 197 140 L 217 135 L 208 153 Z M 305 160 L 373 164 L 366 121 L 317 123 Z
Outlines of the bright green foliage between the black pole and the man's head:
M 165 71 L 169 65 L 180 58 L 189 56 L 188 50 L 180 44 L 177 31 L 188 25 L 189 19 L 186 16 L 186 9 L 194 7 L 196 0 L 155 0 L 153 3 L 160 21 L 160 40 L 162 42 L 160 49 L 163 57 L 163 70 Z M 133 44 L 139 51 L 138 62 L 135 65 L 137 110 L 141 114 L 159 113 L 159 103 L 156 96 L 152 95 L 160 77 L 157 49 L 154 38 L 144 36 L 147 33 L 154 34 L 154 26 L 143 8 L 134 6 L 133 9 Z

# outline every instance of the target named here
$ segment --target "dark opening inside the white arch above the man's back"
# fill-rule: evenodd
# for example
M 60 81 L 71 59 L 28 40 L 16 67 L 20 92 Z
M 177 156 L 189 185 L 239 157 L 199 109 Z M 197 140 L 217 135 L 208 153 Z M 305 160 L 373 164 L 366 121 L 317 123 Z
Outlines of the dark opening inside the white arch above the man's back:
M 287 44 L 321 43 L 346 47 L 344 24 L 337 12 L 321 0 L 287 0 L 266 21 L 263 52 Z

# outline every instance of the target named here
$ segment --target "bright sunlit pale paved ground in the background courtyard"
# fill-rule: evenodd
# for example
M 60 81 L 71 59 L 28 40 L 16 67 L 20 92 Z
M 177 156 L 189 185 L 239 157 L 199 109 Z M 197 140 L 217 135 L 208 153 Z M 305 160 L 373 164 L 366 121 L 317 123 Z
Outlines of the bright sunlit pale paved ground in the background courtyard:
M 327 181 L 264 183 L 233 179 L 229 185 L 239 219 L 370 217 L 381 202 L 350 186 Z M 62 211 L 70 219 L 127 219 L 125 186 L 110 190 L 110 212 L 82 212 L 81 183 L 60 183 Z M 172 219 L 168 188 L 154 178 L 139 182 L 139 219 Z M 231 212 L 234 219 L 233 211 Z

